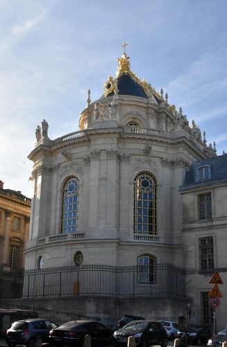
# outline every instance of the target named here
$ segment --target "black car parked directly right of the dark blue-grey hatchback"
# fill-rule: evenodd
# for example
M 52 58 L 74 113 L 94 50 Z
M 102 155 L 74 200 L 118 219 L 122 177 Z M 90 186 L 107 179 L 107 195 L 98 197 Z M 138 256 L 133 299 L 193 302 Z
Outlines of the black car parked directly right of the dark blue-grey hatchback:
M 67 321 L 49 333 L 50 344 L 55 346 L 83 346 L 85 335 L 90 335 L 92 346 L 112 345 L 112 333 L 102 323 L 96 321 Z

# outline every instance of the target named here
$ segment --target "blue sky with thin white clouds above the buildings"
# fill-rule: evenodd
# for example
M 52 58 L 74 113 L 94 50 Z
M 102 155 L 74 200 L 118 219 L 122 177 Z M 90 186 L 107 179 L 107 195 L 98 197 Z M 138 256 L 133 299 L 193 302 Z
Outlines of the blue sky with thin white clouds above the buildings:
M 78 130 L 117 58 L 227 152 L 226 0 L 0 0 L 0 180 L 32 197 L 35 128 Z

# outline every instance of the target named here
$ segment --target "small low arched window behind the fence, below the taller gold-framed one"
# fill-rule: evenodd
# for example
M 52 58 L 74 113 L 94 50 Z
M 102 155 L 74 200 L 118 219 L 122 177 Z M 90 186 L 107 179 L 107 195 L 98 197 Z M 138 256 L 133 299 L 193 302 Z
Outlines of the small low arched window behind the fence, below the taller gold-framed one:
M 155 271 L 156 259 L 149 254 L 142 254 L 137 258 L 138 266 L 138 282 L 139 283 L 155 283 L 156 271 Z

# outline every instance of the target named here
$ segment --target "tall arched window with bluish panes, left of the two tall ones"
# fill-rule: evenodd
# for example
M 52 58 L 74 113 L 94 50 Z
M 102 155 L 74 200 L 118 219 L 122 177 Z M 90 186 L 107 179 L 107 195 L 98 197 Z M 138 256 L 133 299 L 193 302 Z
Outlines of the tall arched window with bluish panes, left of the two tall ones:
M 70 177 L 65 182 L 62 197 L 62 233 L 76 233 L 78 226 L 79 181 Z

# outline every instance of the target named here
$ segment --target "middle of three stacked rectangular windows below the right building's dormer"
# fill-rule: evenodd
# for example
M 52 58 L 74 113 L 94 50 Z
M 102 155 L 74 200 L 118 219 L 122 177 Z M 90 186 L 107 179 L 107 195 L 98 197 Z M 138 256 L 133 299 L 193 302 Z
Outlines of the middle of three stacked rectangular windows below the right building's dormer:
M 214 247 L 212 236 L 199 239 L 199 263 L 201 270 L 214 269 Z

